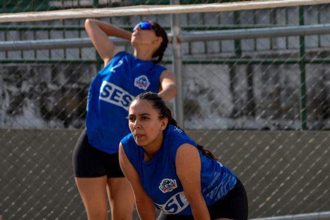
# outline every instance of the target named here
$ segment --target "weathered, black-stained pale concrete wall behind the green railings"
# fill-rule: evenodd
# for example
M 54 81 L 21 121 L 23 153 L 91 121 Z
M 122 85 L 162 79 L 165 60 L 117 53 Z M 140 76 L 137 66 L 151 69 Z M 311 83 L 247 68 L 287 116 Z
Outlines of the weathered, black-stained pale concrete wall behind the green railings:
M 305 7 L 305 23 L 328 23 L 330 6 Z M 240 11 L 241 25 L 297 25 L 298 8 Z M 273 18 L 273 21 L 271 21 Z M 116 25 L 154 19 L 170 26 L 170 15 L 103 17 Z M 181 15 L 182 27 L 233 25 L 234 13 Z M 39 25 L 72 26 L 85 19 L 43 21 Z M 36 25 L 35 23 L 24 23 Z M 22 24 L 22 25 L 24 25 Z M 0 41 L 87 37 L 79 31 L 0 31 Z M 299 37 L 241 40 L 242 58 L 286 60 L 298 58 Z M 183 60 L 237 57 L 235 41 L 182 43 Z M 328 35 L 306 36 L 306 58 L 329 57 Z M 127 48 L 132 51 L 131 47 Z M 96 74 L 94 48 L 0 51 L 5 60 L 78 60 L 70 64 L 6 64 L 0 66 L 0 127 L 81 128 L 86 97 Z M 164 60 L 171 60 L 171 45 Z M 80 62 L 81 61 L 81 62 Z M 171 70 L 171 65 L 166 65 Z M 330 129 L 330 74 L 328 64 L 306 65 L 308 129 Z M 297 64 L 183 65 L 185 127 L 188 129 L 299 129 L 300 70 Z

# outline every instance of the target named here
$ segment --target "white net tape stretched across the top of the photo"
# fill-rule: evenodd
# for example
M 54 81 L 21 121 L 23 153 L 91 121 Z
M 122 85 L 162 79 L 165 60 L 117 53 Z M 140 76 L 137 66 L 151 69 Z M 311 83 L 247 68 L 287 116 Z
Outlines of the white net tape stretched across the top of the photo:
M 214 3 L 172 6 L 132 6 L 104 9 L 69 9 L 47 12 L 8 13 L 0 15 L 0 22 L 41 21 L 66 18 L 89 18 L 106 16 L 179 14 L 197 12 L 221 12 L 267 9 L 290 6 L 328 4 L 330 0 L 269 0 L 234 3 Z

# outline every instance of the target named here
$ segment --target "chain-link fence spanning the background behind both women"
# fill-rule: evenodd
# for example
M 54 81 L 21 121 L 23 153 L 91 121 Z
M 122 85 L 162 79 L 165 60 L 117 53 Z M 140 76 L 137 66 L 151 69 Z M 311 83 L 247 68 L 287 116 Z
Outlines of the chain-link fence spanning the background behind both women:
M 140 4 L 169 1 L 10 0 L 0 10 Z M 330 36 L 294 36 L 288 30 L 281 37 L 262 37 L 274 28 L 325 26 L 329 12 L 328 5 L 317 5 L 180 15 L 183 34 L 262 30 L 254 38 L 181 43 L 184 127 L 245 184 L 250 218 L 330 210 Z M 170 15 L 100 19 L 127 30 L 152 19 L 171 32 Z M 85 126 L 90 81 L 102 62 L 92 46 L 15 50 L 1 44 L 86 38 L 84 20 L 0 23 L 4 220 L 86 218 L 73 181 L 71 153 Z M 122 47 L 132 51 L 129 45 Z M 169 45 L 162 63 L 168 69 L 172 53 Z

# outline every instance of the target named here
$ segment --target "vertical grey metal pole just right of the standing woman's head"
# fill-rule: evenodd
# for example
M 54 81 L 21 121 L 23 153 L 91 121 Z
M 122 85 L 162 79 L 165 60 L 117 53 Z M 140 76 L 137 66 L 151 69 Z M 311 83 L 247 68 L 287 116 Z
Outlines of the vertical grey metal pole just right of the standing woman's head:
M 171 0 L 171 5 L 180 5 L 180 0 Z M 183 95 L 182 95 L 182 53 L 181 42 L 178 36 L 181 32 L 180 14 L 171 14 L 172 30 L 172 64 L 173 72 L 177 76 L 177 95 L 175 97 L 175 117 L 178 125 L 184 128 L 183 123 Z

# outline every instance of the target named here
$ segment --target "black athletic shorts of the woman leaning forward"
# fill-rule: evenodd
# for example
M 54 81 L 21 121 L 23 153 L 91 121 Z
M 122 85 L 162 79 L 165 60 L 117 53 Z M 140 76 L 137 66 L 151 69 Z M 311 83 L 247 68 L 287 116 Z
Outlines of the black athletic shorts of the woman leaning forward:
M 207 207 L 211 220 L 230 218 L 235 220 L 248 219 L 248 197 L 243 184 L 237 179 L 235 187 L 222 199 Z M 164 214 L 160 212 L 157 220 L 194 220 L 193 215 Z

